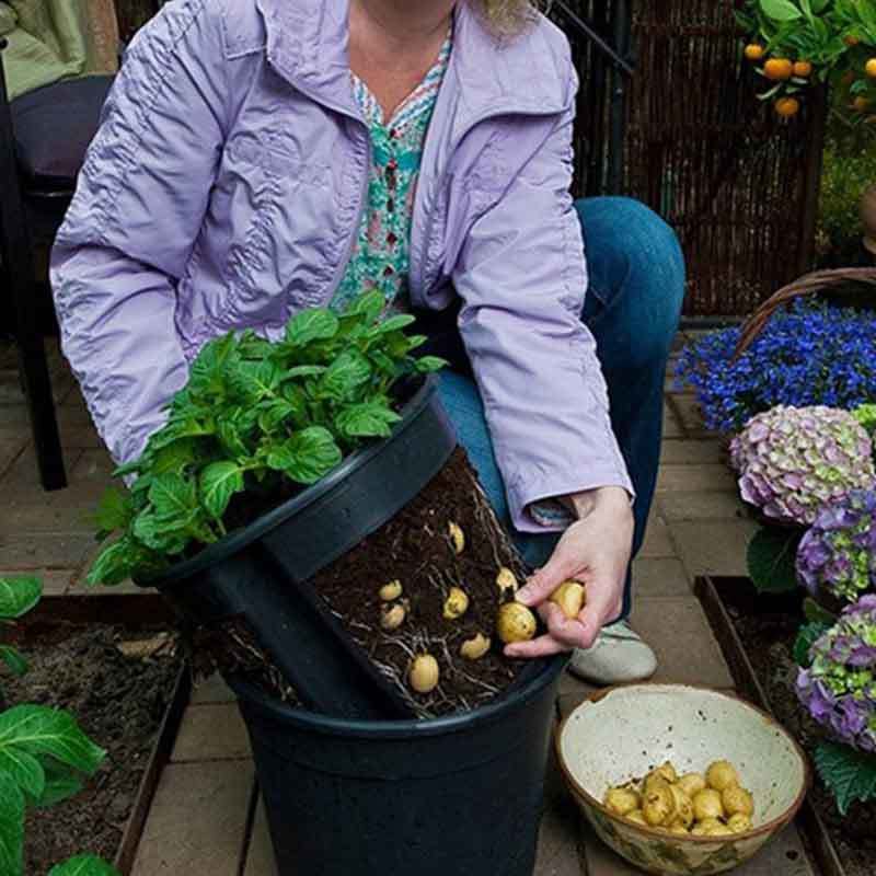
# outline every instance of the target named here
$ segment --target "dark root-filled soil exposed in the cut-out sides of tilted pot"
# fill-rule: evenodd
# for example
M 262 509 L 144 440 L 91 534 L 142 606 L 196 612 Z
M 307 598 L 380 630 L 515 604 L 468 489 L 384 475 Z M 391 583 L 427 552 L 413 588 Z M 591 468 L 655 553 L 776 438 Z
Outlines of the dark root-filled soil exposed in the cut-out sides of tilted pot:
M 449 534 L 454 522 L 465 538 L 457 554 Z M 527 666 L 502 653 L 495 635 L 503 597 L 496 584 L 502 567 L 522 583 L 526 568 L 477 483 L 465 452 L 458 449 L 426 488 L 392 520 L 311 580 L 350 637 L 393 683 L 423 718 L 474 708 L 502 693 Z M 381 600 L 380 588 L 402 585 L 401 597 Z M 443 616 L 451 587 L 469 597 L 469 609 L 458 620 Z M 402 625 L 381 629 L 388 606 L 405 610 Z M 465 660 L 460 645 L 482 633 L 492 647 L 480 660 Z M 235 621 L 220 630 L 197 631 L 196 661 L 203 673 L 218 667 L 242 672 L 272 695 L 296 702 L 295 691 L 283 681 L 245 626 Z M 429 694 L 415 693 L 407 681 L 412 659 L 433 655 L 440 682 Z

